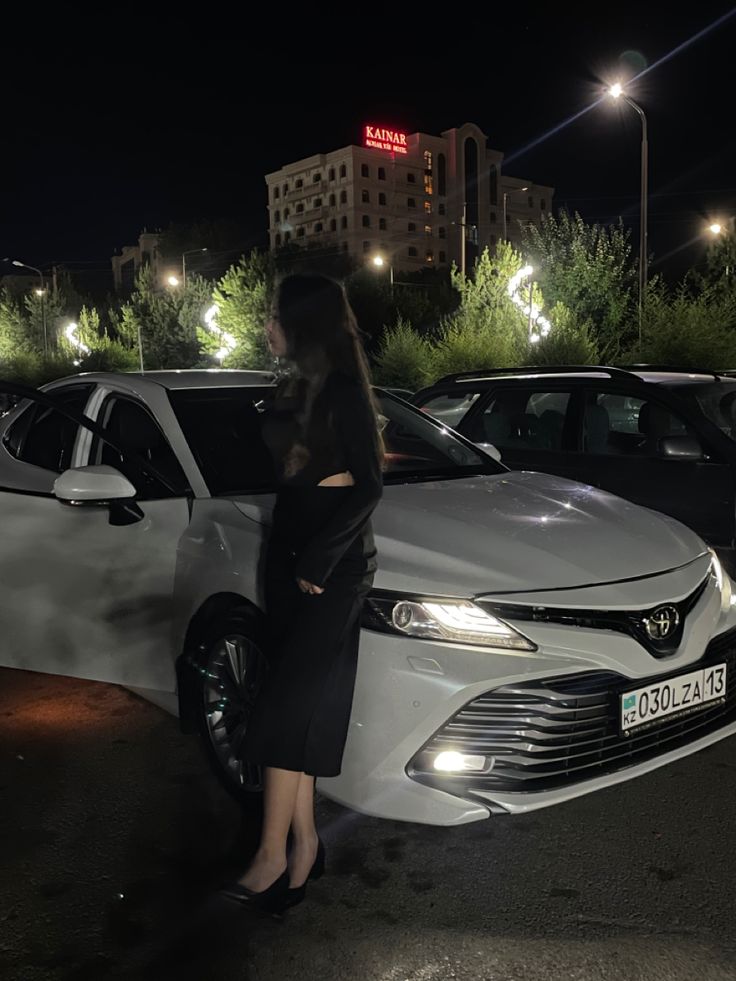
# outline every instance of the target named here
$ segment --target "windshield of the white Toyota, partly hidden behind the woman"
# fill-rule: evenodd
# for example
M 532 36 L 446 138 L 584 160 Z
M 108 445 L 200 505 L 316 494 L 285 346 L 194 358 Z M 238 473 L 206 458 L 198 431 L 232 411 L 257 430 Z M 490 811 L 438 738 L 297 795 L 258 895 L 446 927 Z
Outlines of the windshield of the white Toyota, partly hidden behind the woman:
M 272 491 L 271 457 L 261 439 L 257 406 L 271 388 L 178 389 L 169 400 L 214 497 Z M 385 392 L 377 391 L 387 484 L 505 472 L 457 433 Z

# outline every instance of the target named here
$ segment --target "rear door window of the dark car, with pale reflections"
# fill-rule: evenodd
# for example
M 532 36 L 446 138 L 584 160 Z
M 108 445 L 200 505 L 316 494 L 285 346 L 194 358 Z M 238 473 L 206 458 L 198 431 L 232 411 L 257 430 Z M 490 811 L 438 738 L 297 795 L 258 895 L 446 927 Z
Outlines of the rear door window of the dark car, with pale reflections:
M 499 449 L 559 452 L 570 391 L 508 388 L 496 392 L 475 421 L 471 438 Z

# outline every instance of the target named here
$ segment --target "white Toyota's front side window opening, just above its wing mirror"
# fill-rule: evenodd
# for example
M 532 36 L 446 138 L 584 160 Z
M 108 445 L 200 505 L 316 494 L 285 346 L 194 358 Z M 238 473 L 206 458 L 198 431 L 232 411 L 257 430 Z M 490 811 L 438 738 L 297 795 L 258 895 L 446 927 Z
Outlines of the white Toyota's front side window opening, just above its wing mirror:
M 152 464 L 176 490 L 172 491 L 152 474 L 141 476 L 125 453 L 99 438 L 93 443 L 91 462 L 115 467 L 135 485 L 138 497 L 144 501 L 182 496 L 187 492 L 188 483 L 176 454 L 158 423 L 143 406 L 130 399 L 112 396 L 102 406 L 99 421 L 116 443 Z

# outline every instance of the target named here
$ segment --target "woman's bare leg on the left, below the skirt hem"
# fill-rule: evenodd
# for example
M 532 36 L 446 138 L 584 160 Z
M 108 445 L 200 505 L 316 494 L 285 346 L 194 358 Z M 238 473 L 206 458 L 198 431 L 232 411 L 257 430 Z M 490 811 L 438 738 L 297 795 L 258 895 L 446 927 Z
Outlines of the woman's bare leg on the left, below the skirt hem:
M 266 767 L 263 789 L 263 831 L 258 851 L 241 885 L 262 892 L 286 869 L 286 839 L 294 818 L 303 773 Z

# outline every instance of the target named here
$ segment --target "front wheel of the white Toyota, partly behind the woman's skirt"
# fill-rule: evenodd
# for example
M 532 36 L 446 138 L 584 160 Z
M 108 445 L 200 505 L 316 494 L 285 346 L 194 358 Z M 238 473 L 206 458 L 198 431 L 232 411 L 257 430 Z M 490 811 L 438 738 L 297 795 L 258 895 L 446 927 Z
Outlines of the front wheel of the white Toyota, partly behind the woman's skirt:
M 262 630 L 247 609 L 234 609 L 208 625 L 199 650 L 195 712 L 205 753 L 225 790 L 254 803 L 261 770 L 240 750 L 266 674 Z

